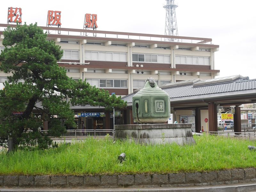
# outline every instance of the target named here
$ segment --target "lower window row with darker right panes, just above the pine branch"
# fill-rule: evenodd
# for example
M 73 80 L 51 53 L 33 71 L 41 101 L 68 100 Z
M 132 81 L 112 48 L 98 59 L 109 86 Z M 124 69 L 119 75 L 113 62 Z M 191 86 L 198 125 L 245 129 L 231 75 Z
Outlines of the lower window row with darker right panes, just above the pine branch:
M 116 79 L 86 79 L 90 85 L 100 88 L 127 88 L 127 80 Z

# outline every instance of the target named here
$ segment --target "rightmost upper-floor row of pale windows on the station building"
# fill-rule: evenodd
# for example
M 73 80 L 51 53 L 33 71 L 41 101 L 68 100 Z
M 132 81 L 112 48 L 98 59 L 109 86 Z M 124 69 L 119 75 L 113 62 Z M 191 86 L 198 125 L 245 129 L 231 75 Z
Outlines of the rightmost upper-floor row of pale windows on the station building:
M 210 57 L 175 56 L 176 64 L 210 65 Z

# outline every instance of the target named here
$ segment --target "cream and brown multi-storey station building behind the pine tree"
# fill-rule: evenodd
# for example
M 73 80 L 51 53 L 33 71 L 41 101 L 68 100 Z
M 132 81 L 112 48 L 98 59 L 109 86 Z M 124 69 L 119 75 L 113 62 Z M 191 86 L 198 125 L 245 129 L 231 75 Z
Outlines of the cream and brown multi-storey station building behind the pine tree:
M 4 49 L 0 24 L 0 50 Z M 158 85 L 200 78 L 209 80 L 219 75 L 214 53 L 219 45 L 210 38 L 166 36 L 140 33 L 41 27 L 48 40 L 63 50 L 58 64 L 65 67 L 68 77 L 86 79 L 92 86 L 104 88 L 109 94 L 126 96 L 142 88 L 148 77 Z M 0 72 L 0 86 L 7 74 Z M 72 106 L 78 129 L 82 121 L 86 129 L 112 129 L 113 111 L 92 106 Z M 93 114 L 93 115 L 92 115 Z M 129 124 L 129 110 L 115 111 L 116 124 Z M 46 126 L 47 128 L 47 126 Z

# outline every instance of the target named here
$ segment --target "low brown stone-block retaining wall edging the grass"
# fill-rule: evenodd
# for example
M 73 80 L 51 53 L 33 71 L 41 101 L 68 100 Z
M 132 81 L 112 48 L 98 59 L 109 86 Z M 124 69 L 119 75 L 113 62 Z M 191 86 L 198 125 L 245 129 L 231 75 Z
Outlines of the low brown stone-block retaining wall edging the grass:
M 203 173 L 97 176 L 0 176 L 1 187 L 190 187 L 247 182 L 256 182 L 255 168 Z

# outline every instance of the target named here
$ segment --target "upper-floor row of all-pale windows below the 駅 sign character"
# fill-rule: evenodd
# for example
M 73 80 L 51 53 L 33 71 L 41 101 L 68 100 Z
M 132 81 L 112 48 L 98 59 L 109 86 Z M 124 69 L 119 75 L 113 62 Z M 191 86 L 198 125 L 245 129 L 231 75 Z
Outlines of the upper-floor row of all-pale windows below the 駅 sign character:
M 119 52 L 85 51 L 84 55 L 85 55 L 85 60 L 127 61 L 126 53 L 119 53 Z

